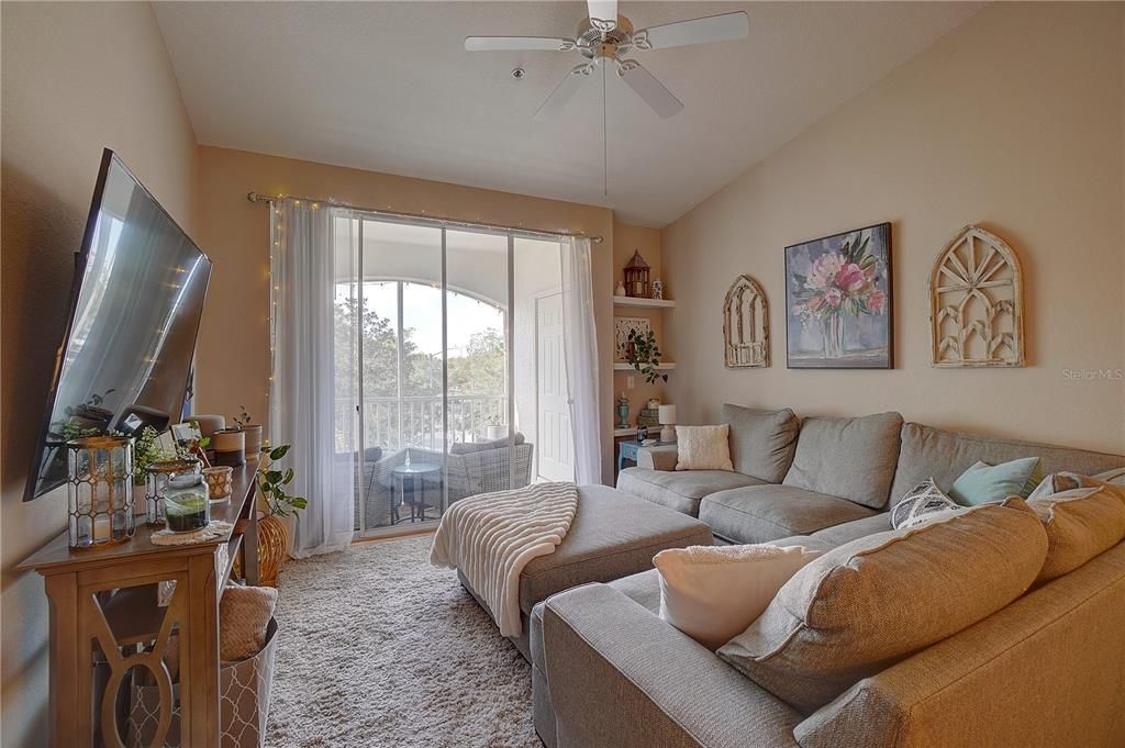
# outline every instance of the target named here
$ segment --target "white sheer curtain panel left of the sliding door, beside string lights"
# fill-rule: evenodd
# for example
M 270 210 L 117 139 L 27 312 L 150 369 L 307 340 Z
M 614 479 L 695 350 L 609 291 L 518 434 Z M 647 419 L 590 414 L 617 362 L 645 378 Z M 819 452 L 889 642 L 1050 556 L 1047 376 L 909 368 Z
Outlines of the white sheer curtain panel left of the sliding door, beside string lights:
M 270 213 L 273 362 L 270 441 L 291 444 L 289 493 L 308 506 L 298 514 L 292 555 L 326 553 L 352 538 L 350 490 L 333 490 L 335 381 L 333 361 L 333 210 L 282 200 Z

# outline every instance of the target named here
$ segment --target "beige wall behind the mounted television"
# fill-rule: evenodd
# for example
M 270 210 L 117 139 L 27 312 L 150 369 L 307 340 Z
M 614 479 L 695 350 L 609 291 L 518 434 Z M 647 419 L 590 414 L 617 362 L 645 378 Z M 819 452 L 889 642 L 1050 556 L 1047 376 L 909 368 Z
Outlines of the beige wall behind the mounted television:
M 2 6 L 2 745 L 45 745 L 43 584 L 12 566 L 65 526 L 65 495 L 20 502 L 90 196 L 116 150 L 183 226 L 195 136 L 147 3 Z

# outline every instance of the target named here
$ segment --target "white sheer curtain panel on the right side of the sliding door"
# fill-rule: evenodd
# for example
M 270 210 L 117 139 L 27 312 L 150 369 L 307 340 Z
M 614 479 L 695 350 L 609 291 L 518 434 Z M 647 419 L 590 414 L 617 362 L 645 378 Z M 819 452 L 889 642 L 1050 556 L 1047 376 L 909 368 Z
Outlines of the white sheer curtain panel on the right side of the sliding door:
M 562 345 L 574 433 L 574 478 L 583 485 L 602 483 L 597 334 L 590 252 L 588 238 L 572 236 L 562 242 Z

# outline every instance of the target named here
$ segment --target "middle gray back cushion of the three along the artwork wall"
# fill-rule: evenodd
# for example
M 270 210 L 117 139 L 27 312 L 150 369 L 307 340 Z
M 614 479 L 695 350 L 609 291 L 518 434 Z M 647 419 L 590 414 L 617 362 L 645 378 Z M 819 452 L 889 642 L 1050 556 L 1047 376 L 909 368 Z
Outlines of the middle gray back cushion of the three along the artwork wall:
M 894 479 L 901 430 L 898 413 L 806 418 L 783 483 L 881 510 Z

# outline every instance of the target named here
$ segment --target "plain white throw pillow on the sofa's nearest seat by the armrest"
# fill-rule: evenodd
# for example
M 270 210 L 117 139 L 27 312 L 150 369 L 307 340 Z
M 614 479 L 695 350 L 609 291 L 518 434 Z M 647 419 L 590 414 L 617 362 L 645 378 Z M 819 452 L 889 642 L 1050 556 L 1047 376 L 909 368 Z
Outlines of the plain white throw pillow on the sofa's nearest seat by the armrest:
M 800 546 L 692 546 L 652 559 L 660 618 L 714 651 L 762 615 L 777 591 L 820 551 Z

